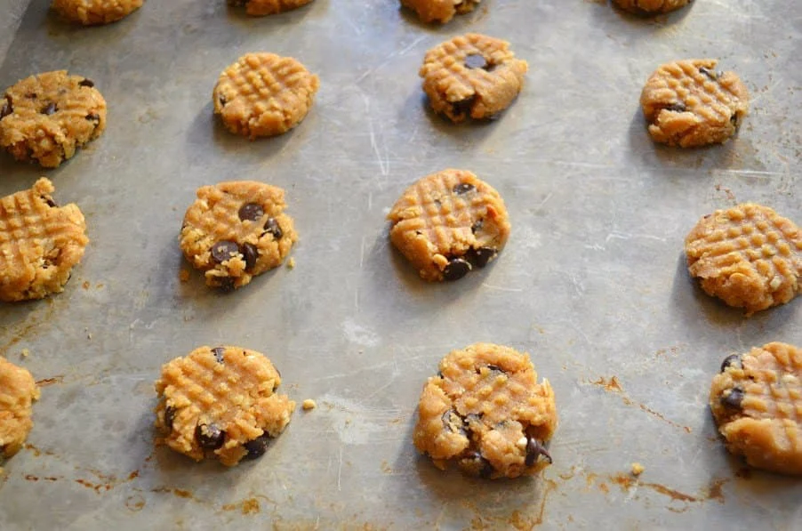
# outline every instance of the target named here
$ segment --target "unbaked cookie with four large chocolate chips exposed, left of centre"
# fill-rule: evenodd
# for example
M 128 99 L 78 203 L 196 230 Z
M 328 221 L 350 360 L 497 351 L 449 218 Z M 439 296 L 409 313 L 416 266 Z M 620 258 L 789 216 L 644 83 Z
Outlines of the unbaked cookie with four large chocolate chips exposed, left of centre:
M 284 213 L 284 190 L 256 181 L 197 189 L 181 227 L 180 247 L 206 285 L 234 289 L 281 265 L 298 239 Z

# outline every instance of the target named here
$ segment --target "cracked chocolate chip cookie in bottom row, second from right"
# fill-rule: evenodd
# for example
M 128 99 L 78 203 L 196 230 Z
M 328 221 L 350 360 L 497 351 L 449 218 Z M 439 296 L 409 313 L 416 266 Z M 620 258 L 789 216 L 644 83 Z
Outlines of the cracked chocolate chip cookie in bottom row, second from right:
M 537 382 L 528 354 L 492 343 L 453 350 L 423 386 L 413 441 L 445 470 L 473 476 L 531 476 L 551 463 L 554 391 Z

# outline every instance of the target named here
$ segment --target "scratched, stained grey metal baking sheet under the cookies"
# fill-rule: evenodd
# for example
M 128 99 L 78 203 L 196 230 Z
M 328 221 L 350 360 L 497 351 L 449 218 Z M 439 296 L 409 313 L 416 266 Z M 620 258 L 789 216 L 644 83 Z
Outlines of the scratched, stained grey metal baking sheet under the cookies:
M 802 486 L 744 473 L 706 406 L 727 354 L 802 343 L 802 302 L 743 318 L 694 287 L 682 255 L 694 222 L 736 200 L 802 222 L 798 2 L 700 0 L 646 21 L 601 2 L 487 0 L 444 28 L 390 0 L 253 20 L 221 0 L 151 0 L 104 28 L 65 26 L 47 4 L 24 12 L 0 84 L 89 76 L 108 129 L 56 171 L 0 157 L 3 195 L 47 174 L 92 238 L 63 294 L 0 306 L 0 352 L 44 381 L 31 446 L 4 465 L 0 528 L 802 526 Z M 500 120 L 447 125 L 417 68 L 469 30 L 506 37 L 531 69 Z M 298 57 L 322 86 L 300 127 L 249 142 L 214 122 L 210 94 L 222 68 L 262 50 Z M 697 56 L 740 72 L 750 117 L 721 147 L 655 147 L 640 87 L 659 63 Z M 391 250 L 384 215 L 449 166 L 501 191 L 513 232 L 492 267 L 429 286 Z M 234 294 L 194 273 L 181 283 L 194 189 L 235 178 L 287 189 L 297 267 Z M 464 479 L 414 452 L 421 384 L 477 341 L 531 352 L 556 390 L 541 479 Z M 231 470 L 154 449 L 151 428 L 161 364 L 217 343 L 266 352 L 285 392 L 318 404 Z M 602 385 L 613 376 L 620 390 Z M 646 466 L 638 481 L 632 462 Z

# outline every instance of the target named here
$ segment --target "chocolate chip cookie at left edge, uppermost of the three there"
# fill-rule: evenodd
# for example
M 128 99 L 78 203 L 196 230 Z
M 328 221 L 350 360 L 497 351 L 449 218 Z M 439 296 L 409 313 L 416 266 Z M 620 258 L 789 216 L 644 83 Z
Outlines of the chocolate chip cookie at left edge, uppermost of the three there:
M 0 147 L 55 168 L 106 129 L 106 101 L 92 80 L 67 70 L 26 77 L 0 101 Z

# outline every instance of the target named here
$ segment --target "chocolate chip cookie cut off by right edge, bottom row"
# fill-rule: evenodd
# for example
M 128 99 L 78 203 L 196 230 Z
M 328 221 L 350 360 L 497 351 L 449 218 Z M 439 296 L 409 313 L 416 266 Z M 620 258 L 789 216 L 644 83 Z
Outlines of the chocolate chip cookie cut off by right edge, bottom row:
M 802 475 L 802 349 L 772 342 L 727 357 L 710 385 L 710 409 L 734 455 Z

